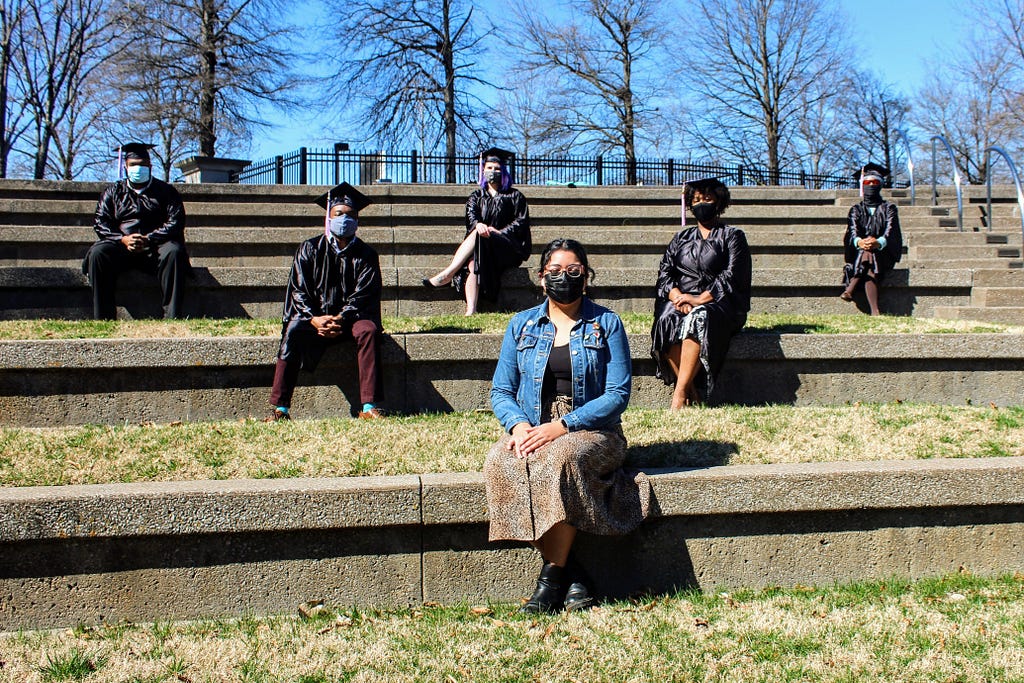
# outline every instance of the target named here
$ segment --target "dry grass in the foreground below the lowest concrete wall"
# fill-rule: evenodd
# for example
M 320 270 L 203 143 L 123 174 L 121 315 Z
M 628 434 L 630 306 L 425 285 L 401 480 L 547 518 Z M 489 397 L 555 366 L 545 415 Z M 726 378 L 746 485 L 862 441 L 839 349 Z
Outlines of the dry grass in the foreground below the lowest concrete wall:
M 1024 577 L 0 634 L 0 680 L 52 680 L 40 668 L 75 652 L 96 683 L 1020 681 Z

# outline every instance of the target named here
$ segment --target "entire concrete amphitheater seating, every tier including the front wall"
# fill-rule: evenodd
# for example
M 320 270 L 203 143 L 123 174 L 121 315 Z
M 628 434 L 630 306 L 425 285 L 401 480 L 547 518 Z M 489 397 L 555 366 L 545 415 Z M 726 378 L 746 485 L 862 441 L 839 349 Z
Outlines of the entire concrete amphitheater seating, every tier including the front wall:
M 85 317 L 80 260 L 101 185 L 0 181 L 0 318 Z M 948 193 L 901 208 L 906 255 L 889 312 L 1024 323 L 1019 216 L 1000 188 L 992 231 L 967 230 Z M 319 188 L 187 186 L 196 315 L 276 315 L 291 254 L 315 234 Z M 381 253 L 389 313 L 459 312 L 420 279 L 461 237 L 464 186 L 380 186 L 362 236 Z M 535 253 L 556 236 L 594 255 L 602 300 L 648 310 L 679 216 L 673 188 L 524 188 Z M 849 312 L 839 292 L 850 191 L 736 188 L 727 216 L 755 259 L 757 311 Z M 536 268 L 536 257 L 527 264 Z M 500 304 L 537 298 L 527 268 Z M 123 314 L 155 311 L 126 278 Z M 1016 335 L 744 334 L 720 399 L 740 403 L 915 400 L 1024 403 Z M 497 335 L 395 335 L 388 395 L 401 412 L 484 408 Z M 634 405 L 664 405 L 643 335 L 631 339 Z M 0 342 L 3 425 L 55 426 L 262 415 L 276 339 Z M 303 416 L 338 415 L 351 349 L 332 349 L 296 394 Z M 131 366 L 121 358 L 130 355 Z M 308 378 L 303 381 L 308 382 Z M 681 435 L 680 439 L 686 439 Z M 584 538 L 598 589 L 833 584 L 1020 570 L 1024 459 L 807 463 L 650 471 L 658 510 L 622 539 Z M 0 631 L 423 601 L 512 601 L 535 553 L 488 544 L 479 473 L 346 479 L 0 487 Z

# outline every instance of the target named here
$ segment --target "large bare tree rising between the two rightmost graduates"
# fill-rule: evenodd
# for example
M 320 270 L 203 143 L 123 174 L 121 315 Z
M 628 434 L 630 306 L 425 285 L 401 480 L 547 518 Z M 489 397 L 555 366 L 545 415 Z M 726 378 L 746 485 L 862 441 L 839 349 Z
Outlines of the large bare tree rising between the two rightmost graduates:
M 836 89 L 843 32 L 830 0 L 696 0 L 699 35 L 682 51 L 682 75 L 700 96 L 696 136 L 778 182 L 799 158 L 801 113 Z M 815 86 L 816 87 L 812 87 Z

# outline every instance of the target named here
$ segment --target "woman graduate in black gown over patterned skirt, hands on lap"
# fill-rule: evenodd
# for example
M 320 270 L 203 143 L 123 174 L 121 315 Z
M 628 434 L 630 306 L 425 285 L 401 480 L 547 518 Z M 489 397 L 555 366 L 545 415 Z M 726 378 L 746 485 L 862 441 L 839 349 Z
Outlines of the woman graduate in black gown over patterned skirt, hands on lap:
M 751 309 L 746 237 L 719 220 L 729 189 L 715 178 L 694 180 L 683 202 L 697 225 L 676 233 L 662 257 L 650 331 L 657 377 L 675 386 L 674 410 L 709 399 Z

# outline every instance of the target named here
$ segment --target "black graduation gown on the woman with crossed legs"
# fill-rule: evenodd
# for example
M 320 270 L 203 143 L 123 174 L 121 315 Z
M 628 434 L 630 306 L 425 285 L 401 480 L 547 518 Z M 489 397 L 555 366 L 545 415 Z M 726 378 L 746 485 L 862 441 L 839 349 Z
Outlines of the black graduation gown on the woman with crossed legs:
M 477 222 L 500 230 L 478 240 L 475 257 L 480 273 L 480 297 L 497 301 L 502 273 L 529 258 L 532 249 L 526 198 L 514 187 L 494 197 L 486 189 L 477 189 L 466 201 L 466 236 L 476 229 Z M 460 293 L 467 276 L 469 270 L 464 268 L 455 279 L 455 287 Z

